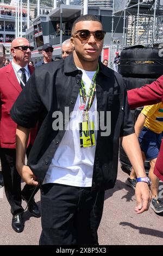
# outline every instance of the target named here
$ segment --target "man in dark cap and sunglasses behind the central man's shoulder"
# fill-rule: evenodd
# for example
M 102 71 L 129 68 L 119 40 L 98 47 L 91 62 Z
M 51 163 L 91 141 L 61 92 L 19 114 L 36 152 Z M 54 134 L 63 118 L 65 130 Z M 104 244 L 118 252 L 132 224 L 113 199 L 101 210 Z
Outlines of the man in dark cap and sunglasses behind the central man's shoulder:
M 42 54 L 43 54 L 43 59 L 40 60 L 40 62 L 37 62 L 35 64 L 35 68 L 37 68 L 38 66 L 41 66 L 43 64 L 47 64 L 49 62 L 53 62 L 54 60 L 52 59 L 52 55 L 53 55 L 53 47 L 51 44 L 45 44 L 42 47 Z

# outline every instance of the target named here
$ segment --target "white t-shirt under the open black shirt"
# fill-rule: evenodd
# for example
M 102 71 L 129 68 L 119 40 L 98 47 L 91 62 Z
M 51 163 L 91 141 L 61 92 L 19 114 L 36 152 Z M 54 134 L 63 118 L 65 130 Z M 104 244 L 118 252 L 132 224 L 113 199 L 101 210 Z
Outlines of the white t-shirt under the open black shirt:
M 79 68 L 78 68 L 79 69 Z M 82 69 L 80 69 L 82 70 Z M 88 93 L 95 71 L 82 70 L 82 80 Z M 43 184 L 58 183 L 78 187 L 91 187 L 93 165 L 95 160 L 97 139 L 97 99 L 92 103 L 89 112 L 95 126 L 95 146 L 80 148 L 79 123 L 82 122 L 82 112 L 79 110 L 80 97 L 78 95 L 73 114 L 70 119 L 72 130 L 66 130 L 52 162 L 47 170 Z M 90 120 L 91 121 L 91 120 Z

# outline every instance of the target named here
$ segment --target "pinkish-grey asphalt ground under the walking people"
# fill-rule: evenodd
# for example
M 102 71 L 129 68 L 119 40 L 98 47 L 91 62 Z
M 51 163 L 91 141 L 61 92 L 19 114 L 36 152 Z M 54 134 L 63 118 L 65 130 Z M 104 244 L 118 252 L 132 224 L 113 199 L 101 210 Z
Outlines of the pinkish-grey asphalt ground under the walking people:
M 125 184 L 127 177 L 119 165 L 115 187 L 105 192 L 103 217 L 98 229 L 99 245 L 163 245 L 163 214 L 155 214 L 151 208 L 141 215 L 135 213 L 134 190 Z M 35 199 L 40 208 L 40 192 Z M 26 208 L 25 202 L 22 205 Z M 0 188 L 0 245 L 39 244 L 41 219 L 33 217 L 28 210 L 23 218 L 24 231 L 16 233 L 11 228 L 10 206 L 4 188 Z

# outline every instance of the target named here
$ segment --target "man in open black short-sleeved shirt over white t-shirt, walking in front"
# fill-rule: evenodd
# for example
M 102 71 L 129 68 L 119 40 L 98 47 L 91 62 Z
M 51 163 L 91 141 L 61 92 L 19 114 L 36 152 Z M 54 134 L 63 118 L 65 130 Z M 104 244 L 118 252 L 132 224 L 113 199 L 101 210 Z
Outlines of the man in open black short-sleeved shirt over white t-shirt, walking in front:
M 104 35 L 96 16 L 79 17 L 72 27 L 73 54 L 36 69 L 11 109 L 18 124 L 18 172 L 27 184 L 41 182 L 40 245 L 98 245 L 120 137 L 137 176 L 146 177 L 122 77 L 98 60 Z M 25 166 L 23 149 L 37 120 L 40 130 Z M 140 214 L 150 194 L 146 182 L 136 186 Z

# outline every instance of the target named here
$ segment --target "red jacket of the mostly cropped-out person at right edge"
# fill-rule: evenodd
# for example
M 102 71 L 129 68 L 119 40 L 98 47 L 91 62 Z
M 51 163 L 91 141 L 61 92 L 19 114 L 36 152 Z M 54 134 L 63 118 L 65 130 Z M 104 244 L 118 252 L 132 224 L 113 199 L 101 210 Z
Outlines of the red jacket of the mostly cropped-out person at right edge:
M 128 102 L 130 108 L 140 107 L 143 105 L 152 105 L 163 103 L 163 76 L 151 84 L 142 88 L 136 88 L 128 91 Z M 155 164 L 154 174 L 163 181 L 163 140 L 161 142 L 160 152 Z

